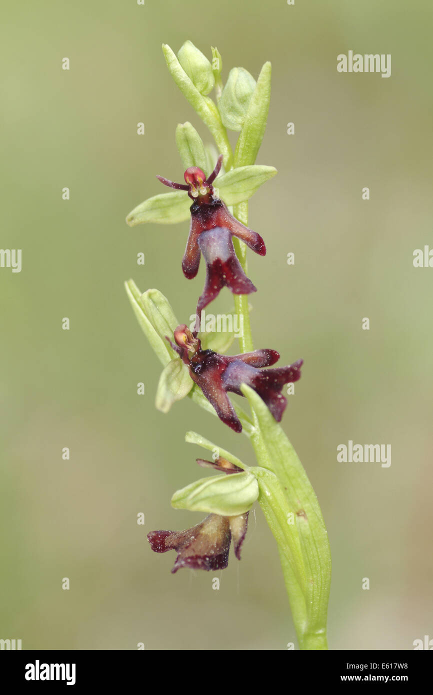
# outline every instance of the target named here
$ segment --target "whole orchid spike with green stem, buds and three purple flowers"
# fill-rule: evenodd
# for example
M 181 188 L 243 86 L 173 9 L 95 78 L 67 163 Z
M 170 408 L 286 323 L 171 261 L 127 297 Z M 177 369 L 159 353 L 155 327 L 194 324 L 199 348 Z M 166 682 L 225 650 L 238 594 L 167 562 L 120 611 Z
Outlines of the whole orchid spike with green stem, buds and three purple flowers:
M 243 320 L 241 354 L 225 354 L 233 334 L 200 334 L 198 328 L 192 331 L 179 323 L 168 299 L 158 290 L 141 293 L 132 280 L 125 286 L 140 327 L 163 366 L 156 407 L 166 413 L 188 396 L 224 425 L 243 432 L 252 443 L 258 465 L 247 466 L 201 434 L 187 432 L 188 443 L 213 452 L 212 461 L 197 459 L 197 463 L 213 468 L 217 475 L 175 492 L 172 506 L 208 516 L 188 530 L 156 530 L 147 538 L 156 553 L 176 551 L 172 572 L 181 567 L 224 569 L 231 539 L 240 559 L 248 513 L 258 501 L 277 541 L 299 646 L 327 649 L 331 580 L 327 530 L 307 474 L 278 424 L 286 408 L 281 391 L 284 384 L 300 378 L 302 359 L 290 366 L 269 368 L 279 354 L 268 348 L 254 350 L 250 326 L 248 295 L 256 287 L 247 277 L 247 247 L 261 256 L 266 249 L 263 238 L 247 227 L 247 201 L 277 173 L 274 167 L 255 164 L 268 118 L 271 66 L 263 65 L 257 81 L 244 68 L 235 67 L 223 85 L 221 56 L 218 49 L 211 50 L 212 62 L 190 41 L 177 56 L 163 45 L 175 83 L 209 129 L 217 149 L 205 146 L 189 122 L 179 124 L 176 142 L 185 183 L 158 176 L 174 190 L 145 200 L 129 213 L 126 222 L 131 226 L 172 224 L 190 217 L 183 274 L 188 279 L 197 275 L 201 255 L 206 263 L 196 313 L 227 287 Z M 215 101 L 209 97 L 212 90 Z M 227 129 L 239 132 L 234 152 Z M 244 396 L 250 412 L 232 403 L 229 392 Z

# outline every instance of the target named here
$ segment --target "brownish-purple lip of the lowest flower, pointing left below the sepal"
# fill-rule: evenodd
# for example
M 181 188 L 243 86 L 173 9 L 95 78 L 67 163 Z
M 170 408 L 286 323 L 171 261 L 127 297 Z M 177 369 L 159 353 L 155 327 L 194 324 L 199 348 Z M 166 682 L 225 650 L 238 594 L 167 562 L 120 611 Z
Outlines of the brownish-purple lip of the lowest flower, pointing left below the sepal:
M 186 531 L 151 531 L 147 539 L 155 553 L 176 550 L 172 573 L 181 567 L 215 571 L 229 564 L 230 541 L 233 537 L 235 555 L 247 532 L 248 512 L 240 516 L 209 514 L 202 523 Z

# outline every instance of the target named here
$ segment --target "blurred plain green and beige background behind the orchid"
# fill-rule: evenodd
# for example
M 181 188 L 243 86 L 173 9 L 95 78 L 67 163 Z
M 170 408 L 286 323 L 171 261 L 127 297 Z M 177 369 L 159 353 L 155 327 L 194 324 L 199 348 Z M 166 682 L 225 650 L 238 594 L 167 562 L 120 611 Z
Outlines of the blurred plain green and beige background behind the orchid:
M 222 573 L 171 575 L 174 553 L 155 555 L 145 539 L 204 516 L 170 507 L 173 491 L 202 475 L 204 450 L 184 443 L 187 430 L 254 464 L 246 437 L 189 399 L 168 415 L 154 409 L 160 366 L 123 288 L 129 277 L 159 288 L 181 321 L 202 291 L 203 267 L 196 281 L 181 272 L 188 222 L 124 222 L 163 192 L 155 174 L 181 179 L 177 123 L 206 137 L 161 51 L 186 39 L 208 56 L 218 46 L 223 79 L 238 65 L 256 77 L 272 61 L 257 162 L 279 175 L 250 205 L 268 247 L 265 259 L 249 254 L 252 327 L 256 347 L 279 350 L 281 364 L 304 358 L 283 425 L 329 531 L 329 646 L 411 649 L 433 637 L 433 270 L 412 265 L 414 249 L 433 246 L 432 19 L 426 0 L 3 8 L 1 246 L 22 249 L 22 272 L 0 270 L 1 638 L 24 649 L 295 641 L 259 507 L 242 561 L 231 550 Z M 349 49 L 392 54 L 391 78 L 338 74 Z M 225 290 L 218 302 L 231 308 Z M 337 463 L 349 439 L 391 443 L 391 467 Z

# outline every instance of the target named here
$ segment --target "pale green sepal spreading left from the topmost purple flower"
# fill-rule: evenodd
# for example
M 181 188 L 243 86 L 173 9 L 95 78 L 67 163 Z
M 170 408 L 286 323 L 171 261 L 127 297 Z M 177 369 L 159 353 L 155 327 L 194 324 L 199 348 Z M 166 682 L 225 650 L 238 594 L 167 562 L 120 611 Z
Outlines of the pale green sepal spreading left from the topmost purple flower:
M 126 223 L 129 227 L 143 222 L 156 224 L 174 224 L 184 222 L 190 216 L 190 199 L 184 190 L 176 190 L 172 193 L 159 193 L 152 198 L 147 198 L 127 215 Z

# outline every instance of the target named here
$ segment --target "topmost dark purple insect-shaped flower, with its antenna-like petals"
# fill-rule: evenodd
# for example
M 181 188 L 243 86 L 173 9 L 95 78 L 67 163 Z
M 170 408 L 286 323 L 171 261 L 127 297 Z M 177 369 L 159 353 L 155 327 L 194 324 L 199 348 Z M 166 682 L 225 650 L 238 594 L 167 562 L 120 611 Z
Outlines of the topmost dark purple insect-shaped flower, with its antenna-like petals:
M 224 202 L 215 197 L 212 183 L 220 172 L 221 163 L 222 155 L 218 157 L 215 169 L 207 179 L 199 167 L 189 167 L 186 170 L 186 183 L 174 183 L 163 177 L 156 177 L 165 186 L 187 190 L 193 200 L 190 207 L 190 234 L 182 269 L 188 279 L 195 277 L 202 252 L 206 261 L 206 282 L 197 304 L 197 313 L 214 300 L 224 286 L 235 295 L 247 295 L 256 291 L 238 261 L 233 247 L 233 236 L 245 241 L 256 254 L 264 256 L 266 253 L 261 236 L 236 220 Z

